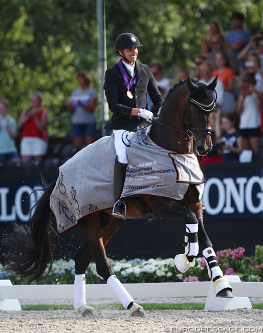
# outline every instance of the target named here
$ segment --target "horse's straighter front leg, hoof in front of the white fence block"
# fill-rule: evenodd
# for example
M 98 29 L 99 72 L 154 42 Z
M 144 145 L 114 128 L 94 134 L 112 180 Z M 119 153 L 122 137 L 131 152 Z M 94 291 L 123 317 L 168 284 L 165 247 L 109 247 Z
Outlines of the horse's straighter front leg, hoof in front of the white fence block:
M 199 214 L 196 213 L 196 215 Z M 212 242 L 205 231 L 203 213 L 198 217 L 198 221 L 198 239 L 200 249 L 206 261 L 208 276 L 210 280 L 214 283 L 215 295 L 216 297 L 233 297 L 232 287 L 230 286 L 228 279 L 223 277 L 223 272 L 216 260 L 216 255 L 212 247 Z

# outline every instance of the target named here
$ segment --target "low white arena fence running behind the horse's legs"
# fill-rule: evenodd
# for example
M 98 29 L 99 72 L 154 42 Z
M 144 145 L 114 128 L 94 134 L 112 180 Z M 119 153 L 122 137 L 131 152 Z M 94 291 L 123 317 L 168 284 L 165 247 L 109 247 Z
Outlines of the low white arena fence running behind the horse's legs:
M 233 288 L 233 299 L 239 302 L 248 297 L 263 298 L 263 282 L 240 282 L 238 276 L 227 276 Z M 211 282 L 169 282 L 169 283 L 124 283 L 128 293 L 138 298 L 172 298 L 172 297 L 207 297 L 213 293 Z M 0 280 L 0 309 L 8 310 L 12 300 L 59 300 L 73 299 L 74 285 L 12 285 L 10 280 Z M 107 284 L 86 284 L 86 300 L 89 299 L 116 299 L 116 296 Z M 11 302 L 12 303 L 12 302 Z M 19 304 L 19 302 L 18 302 Z M 7 308 L 8 307 L 8 308 Z M 246 307 L 246 306 L 245 306 Z M 238 307 L 236 307 L 238 308 Z M 19 309 L 19 308 L 18 308 Z

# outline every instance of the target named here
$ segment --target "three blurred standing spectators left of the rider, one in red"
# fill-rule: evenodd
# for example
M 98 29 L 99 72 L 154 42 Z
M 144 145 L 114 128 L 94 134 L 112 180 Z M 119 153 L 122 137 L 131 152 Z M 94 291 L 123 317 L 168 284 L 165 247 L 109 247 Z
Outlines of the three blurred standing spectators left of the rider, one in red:
M 72 114 L 72 144 L 66 154 L 61 152 L 61 157 L 66 158 L 97 139 L 97 92 L 91 87 L 92 79 L 86 71 L 79 71 L 76 79 L 79 88 L 72 92 L 70 99 L 61 101 Z M 47 157 L 49 112 L 43 107 L 40 92 L 32 92 L 29 100 L 30 105 L 21 112 L 17 123 L 9 115 L 8 102 L 0 101 L 0 168 L 41 168 Z M 48 166 L 57 158 L 52 160 Z

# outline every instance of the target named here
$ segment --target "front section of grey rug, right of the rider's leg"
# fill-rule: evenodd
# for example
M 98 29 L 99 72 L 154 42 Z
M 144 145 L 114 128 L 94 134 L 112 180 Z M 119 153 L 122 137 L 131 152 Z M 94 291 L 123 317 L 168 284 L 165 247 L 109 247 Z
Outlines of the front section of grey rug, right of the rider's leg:
M 127 154 L 122 197 L 147 194 L 182 200 L 192 183 L 196 184 L 201 200 L 205 174 L 195 153 L 167 151 L 141 130 L 131 138 Z

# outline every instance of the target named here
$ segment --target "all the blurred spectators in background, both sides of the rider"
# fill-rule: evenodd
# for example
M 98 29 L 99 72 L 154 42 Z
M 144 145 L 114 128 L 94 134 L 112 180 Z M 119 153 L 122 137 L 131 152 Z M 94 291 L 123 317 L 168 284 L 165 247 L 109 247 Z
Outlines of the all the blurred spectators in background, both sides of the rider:
M 213 149 L 202 163 L 237 163 L 260 159 L 263 119 L 263 32 L 251 35 L 245 16 L 234 12 L 232 30 L 224 34 L 220 22 L 211 20 L 201 52 L 193 57 L 192 68 L 177 69 L 176 82 L 189 75 L 210 84 L 218 75 L 217 110 L 212 115 Z M 162 66 L 150 65 L 157 86 L 165 97 L 173 83 Z M 72 114 L 74 153 L 97 139 L 95 109 L 97 93 L 86 71 L 76 76 L 78 89 L 62 104 Z M 151 100 L 148 98 L 148 110 Z M 17 130 L 18 128 L 18 130 Z M 0 101 L 0 166 L 8 163 L 28 168 L 41 165 L 48 151 L 48 110 L 39 92 L 30 95 L 30 106 L 16 120 L 9 105 Z

